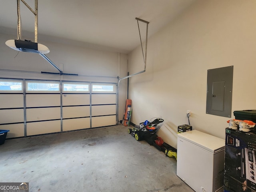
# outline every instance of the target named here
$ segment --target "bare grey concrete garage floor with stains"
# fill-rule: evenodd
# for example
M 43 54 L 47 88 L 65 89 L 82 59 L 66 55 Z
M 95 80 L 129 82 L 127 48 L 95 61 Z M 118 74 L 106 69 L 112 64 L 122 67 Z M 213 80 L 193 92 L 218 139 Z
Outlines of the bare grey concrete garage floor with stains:
M 6 140 L 0 182 L 30 192 L 194 192 L 176 176 L 176 159 L 122 125 Z

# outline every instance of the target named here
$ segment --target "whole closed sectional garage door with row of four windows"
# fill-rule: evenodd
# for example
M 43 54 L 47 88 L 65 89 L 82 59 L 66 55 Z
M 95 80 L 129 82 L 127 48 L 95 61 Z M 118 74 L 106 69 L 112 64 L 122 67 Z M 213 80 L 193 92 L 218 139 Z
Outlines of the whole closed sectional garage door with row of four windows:
M 116 83 L 0 80 L 7 138 L 117 124 Z

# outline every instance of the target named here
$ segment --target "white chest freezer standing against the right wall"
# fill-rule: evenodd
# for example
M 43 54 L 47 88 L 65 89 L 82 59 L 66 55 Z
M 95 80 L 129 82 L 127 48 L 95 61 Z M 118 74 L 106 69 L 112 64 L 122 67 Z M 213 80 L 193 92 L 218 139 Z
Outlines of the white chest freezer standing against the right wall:
M 192 130 L 177 142 L 177 176 L 196 192 L 223 192 L 225 140 Z

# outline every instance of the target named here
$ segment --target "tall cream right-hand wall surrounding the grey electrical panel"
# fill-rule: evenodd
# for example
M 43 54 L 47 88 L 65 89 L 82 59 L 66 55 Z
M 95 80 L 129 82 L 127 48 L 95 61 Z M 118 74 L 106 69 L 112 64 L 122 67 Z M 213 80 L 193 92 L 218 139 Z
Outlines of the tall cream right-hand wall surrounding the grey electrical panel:
M 256 1 L 199 0 L 148 39 L 146 72 L 130 78 L 135 124 L 162 117 L 158 136 L 176 147 L 177 127 L 225 138 L 230 118 L 206 114 L 207 70 L 234 66 L 234 110 L 256 109 Z M 150 31 L 150 24 L 149 24 Z M 130 74 L 143 70 L 141 47 L 129 54 Z

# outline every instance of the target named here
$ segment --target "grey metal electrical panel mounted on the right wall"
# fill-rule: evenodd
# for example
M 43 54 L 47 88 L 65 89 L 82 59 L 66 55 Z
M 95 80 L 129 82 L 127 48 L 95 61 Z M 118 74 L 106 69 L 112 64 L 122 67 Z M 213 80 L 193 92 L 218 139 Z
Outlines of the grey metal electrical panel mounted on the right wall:
M 231 117 L 234 66 L 209 69 L 207 73 L 206 113 Z

